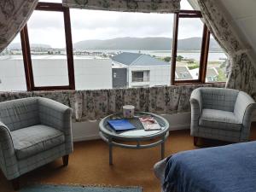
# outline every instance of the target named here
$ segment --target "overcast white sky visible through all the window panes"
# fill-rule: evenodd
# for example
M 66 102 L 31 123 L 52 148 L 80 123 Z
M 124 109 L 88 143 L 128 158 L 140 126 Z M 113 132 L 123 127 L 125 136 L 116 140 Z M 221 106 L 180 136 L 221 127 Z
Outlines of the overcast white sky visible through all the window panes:
M 186 0 L 182 0 L 181 9 L 192 8 Z M 73 43 L 88 39 L 123 37 L 172 38 L 173 14 L 70 9 L 70 17 Z M 27 26 L 31 44 L 49 44 L 53 48 L 65 47 L 62 13 L 34 11 Z M 202 29 L 203 24 L 199 19 L 181 19 L 178 38 L 201 37 Z M 17 37 L 14 43 L 19 41 Z

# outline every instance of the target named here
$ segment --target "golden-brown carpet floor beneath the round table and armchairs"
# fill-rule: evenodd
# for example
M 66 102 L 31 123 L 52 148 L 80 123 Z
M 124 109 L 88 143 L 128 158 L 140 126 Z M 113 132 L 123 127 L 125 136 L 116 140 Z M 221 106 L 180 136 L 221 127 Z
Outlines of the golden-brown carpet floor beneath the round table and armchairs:
M 252 128 L 256 140 L 256 124 Z M 220 143 L 201 140 L 204 146 Z M 223 144 L 223 143 L 222 143 Z M 171 131 L 166 142 L 166 156 L 195 148 L 189 131 Z M 79 183 L 96 185 L 143 186 L 144 192 L 160 191 L 154 177 L 154 163 L 160 160 L 160 147 L 148 149 L 113 148 L 113 166 L 108 166 L 108 145 L 102 140 L 74 144 L 69 166 L 61 167 L 61 159 L 27 173 L 20 179 L 26 183 Z M 10 183 L 0 172 L 0 192 L 12 191 Z

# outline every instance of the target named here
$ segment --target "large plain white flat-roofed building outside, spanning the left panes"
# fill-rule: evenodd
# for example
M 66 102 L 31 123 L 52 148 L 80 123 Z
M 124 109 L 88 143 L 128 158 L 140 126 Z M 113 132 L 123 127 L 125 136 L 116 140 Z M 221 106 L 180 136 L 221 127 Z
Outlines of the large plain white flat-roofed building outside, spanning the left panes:
M 73 57 L 76 90 L 112 88 L 112 61 L 96 56 Z M 35 86 L 68 84 L 65 55 L 33 55 Z M 26 90 L 22 55 L 0 56 L 0 91 Z

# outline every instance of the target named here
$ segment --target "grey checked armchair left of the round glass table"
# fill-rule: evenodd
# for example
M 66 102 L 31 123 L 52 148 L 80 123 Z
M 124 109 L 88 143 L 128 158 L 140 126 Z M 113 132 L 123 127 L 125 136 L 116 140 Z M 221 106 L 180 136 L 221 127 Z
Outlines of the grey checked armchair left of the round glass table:
M 0 167 L 19 188 L 20 175 L 73 152 L 72 109 L 42 97 L 0 102 Z

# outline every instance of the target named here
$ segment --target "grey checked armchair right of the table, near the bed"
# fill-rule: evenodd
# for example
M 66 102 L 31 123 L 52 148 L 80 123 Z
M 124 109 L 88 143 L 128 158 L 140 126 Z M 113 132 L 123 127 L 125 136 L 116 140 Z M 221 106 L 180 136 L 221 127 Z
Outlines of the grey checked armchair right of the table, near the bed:
M 227 142 L 247 142 L 256 103 L 240 90 L 198 88 L 190 97 L 190 135 Z

